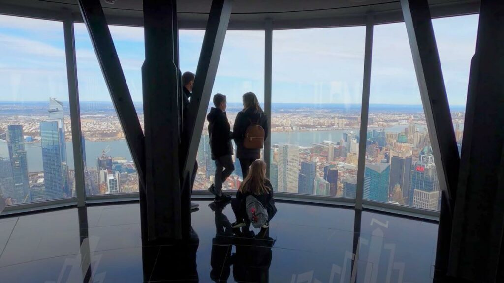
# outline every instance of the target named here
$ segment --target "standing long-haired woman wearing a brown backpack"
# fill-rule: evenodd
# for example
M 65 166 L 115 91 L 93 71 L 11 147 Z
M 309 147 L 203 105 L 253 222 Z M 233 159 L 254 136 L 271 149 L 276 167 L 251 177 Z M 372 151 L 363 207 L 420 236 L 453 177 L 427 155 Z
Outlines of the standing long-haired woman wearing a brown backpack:
M 268 136 L 268 119 L 254 93 L 243 95 L 243 109 L 236 115 L 233 135 L 236 158 L 240 161 L 241 176 L 245 179 L 250 164 L 261 158 L 261 149 Z

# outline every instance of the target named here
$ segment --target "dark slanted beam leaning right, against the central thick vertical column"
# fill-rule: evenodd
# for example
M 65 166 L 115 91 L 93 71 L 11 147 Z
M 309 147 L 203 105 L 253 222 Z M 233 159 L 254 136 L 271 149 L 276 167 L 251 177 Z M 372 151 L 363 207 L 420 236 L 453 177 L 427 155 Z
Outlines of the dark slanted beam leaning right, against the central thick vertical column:
M 191 228 L 191 174 L 193 174 L 196 154 L 200 144 L 203 124 L 207 114 L 208 103 L 212 88 L 214 86 L 215 75 L 219 65 L 219 59 L 224 45 L 229 18 L 231 16 L 231 0 L 213 0 L 210 14 L 208 15 L 207 28 L 203 45 L 201 48 L 200 60 L 196 69 L 196 80 L 193 87 L 193 94 L 189 104 L 188 123 L 184 123 L 182 139 L 182 237 L 189 236 Z M 194 172 L 196 174 L 196 172 Z M 185 235 L 185 236 L 184 236 Z

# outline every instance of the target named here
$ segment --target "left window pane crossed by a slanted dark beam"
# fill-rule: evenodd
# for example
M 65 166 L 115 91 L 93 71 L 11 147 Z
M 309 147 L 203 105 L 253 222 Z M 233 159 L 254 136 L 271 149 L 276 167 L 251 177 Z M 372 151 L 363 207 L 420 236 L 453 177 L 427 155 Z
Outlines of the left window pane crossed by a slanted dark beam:
M 75 23 L 86 194 L 139 191 L 139 179 L 86 26 Z M 143 127 L 144 31 L 109 26 L 117 55 Z

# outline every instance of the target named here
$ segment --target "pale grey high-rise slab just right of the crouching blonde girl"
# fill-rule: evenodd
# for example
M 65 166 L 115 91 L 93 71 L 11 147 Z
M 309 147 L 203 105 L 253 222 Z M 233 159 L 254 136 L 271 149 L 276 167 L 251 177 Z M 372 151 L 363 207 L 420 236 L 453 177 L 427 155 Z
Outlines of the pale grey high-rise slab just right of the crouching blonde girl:
M 278 150 L 278 191 L 297 193 L 299 147 L 280 146 Z

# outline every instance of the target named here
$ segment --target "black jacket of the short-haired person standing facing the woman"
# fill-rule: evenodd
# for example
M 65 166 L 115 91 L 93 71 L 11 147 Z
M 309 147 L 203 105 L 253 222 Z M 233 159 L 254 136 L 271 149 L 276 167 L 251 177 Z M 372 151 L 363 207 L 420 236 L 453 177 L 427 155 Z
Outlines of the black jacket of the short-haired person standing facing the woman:
M 231 126 L 227 120 L 226 112 L 212 107 L 207 115 L 208 134 L 210 135 L 210 150 L 212 159 L 232 155 Z

